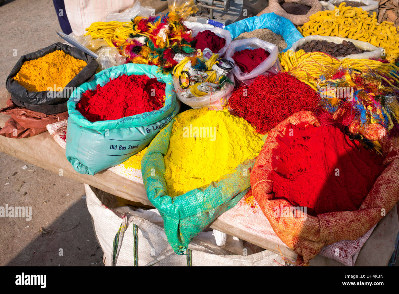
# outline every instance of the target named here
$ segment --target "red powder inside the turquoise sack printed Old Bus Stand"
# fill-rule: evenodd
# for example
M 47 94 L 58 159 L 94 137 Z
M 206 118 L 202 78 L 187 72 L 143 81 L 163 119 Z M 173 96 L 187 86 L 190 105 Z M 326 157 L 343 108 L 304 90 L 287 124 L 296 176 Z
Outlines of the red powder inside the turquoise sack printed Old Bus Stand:
M 121 75 L 82 94 L 76 109 L 91 122 L 161 109 L 165 84 L 146 75 Z

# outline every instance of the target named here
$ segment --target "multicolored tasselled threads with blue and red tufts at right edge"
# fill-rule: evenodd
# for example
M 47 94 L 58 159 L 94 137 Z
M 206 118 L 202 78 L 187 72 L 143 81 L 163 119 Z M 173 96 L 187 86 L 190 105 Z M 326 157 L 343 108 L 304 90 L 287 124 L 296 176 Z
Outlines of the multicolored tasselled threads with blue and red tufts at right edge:
M 391 72 L 398 77 L 398 72 Z M 316 81 L 321 96 L 321 120 L 342 127 L 358 120 L 362 127 L 381 124 L 390 136 L 399 135 L 399 83 L 379 69 L 327 70 Z M 337 126 L 338 126 L 337 125 Z

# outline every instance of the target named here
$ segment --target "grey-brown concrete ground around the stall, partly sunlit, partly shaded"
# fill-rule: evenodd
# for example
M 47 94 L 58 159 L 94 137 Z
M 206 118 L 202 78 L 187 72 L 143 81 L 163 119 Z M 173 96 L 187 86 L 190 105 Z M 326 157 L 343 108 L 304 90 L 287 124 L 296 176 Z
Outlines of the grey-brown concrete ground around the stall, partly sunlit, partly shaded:
M 162 10 L 166 5 L 141 2 Z M 5 85 L 22 55 L 62 40 L 51 0 L 5 0 L 0 16 L 0 81 Z M 6 205 L 32 206 L 32 220 L 0 217 L 0 266 L 103 265 L 82 183 L 0 152 L 0 207 Z

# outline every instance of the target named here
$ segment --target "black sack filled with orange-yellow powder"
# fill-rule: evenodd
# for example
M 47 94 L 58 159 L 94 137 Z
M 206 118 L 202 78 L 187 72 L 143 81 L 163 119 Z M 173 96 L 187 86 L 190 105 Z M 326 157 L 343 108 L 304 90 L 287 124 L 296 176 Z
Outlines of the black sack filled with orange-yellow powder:
M 54 43 L 22 56 L 8 75 L 6 88 L 20 107 L 45 114 L 64 112 L 73 90 L 97 67 L 97 61 L 80 49 Z

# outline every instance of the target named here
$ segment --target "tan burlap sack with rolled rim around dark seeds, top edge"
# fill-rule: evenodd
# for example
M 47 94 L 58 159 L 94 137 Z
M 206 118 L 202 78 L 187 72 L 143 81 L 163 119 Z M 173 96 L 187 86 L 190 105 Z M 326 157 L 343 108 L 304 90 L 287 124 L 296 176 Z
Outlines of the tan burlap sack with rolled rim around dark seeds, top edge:
M 311 8 L 307 14 L 302 14 L 302 15 L 289 14 L 281 7 L 281 4 L 284 2 L 298 3 L 310 6 Z M 269 6 L 267 6 L 264 10 L 259 12 L 257 16 L 261 16 L 264 13 L 274 12 L 279 16 L 288 18 L 295 25 L 302 25 L 305 22 L 309 21 L 309 17 L 312 14 L 315 14 L 316 12 L 321 10 L 322 10 L 322 4 L 320 4 L 318 0 L 269 0 Z

